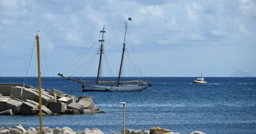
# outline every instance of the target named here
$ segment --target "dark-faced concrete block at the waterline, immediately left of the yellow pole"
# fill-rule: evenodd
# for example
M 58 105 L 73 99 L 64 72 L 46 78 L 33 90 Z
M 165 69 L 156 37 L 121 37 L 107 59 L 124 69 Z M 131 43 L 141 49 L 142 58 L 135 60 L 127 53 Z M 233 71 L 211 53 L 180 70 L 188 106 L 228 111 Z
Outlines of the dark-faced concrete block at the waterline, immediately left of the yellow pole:
M 34 115 L 39 113 L 39 110 L 31 110 L 31 109 L 38 109 L 38 107 L 32 103 L 23 102 L 20 107 L 19 113 L 25 114 L 25 115 Z

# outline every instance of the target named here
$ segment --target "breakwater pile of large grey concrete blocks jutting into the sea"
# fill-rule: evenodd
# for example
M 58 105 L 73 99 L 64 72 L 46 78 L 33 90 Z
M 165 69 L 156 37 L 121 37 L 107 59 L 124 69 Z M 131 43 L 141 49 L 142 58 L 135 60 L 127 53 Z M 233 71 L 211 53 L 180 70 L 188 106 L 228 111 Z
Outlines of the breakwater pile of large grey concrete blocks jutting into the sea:
M 42 113 L 85 114 L 104 112 L 93 103 L 93 97 L 76 98 L 57 89 L 41 89 Z M 35 115 L 39 113 L 39 89 L 17 83 L 0 83 L 0 115 Z

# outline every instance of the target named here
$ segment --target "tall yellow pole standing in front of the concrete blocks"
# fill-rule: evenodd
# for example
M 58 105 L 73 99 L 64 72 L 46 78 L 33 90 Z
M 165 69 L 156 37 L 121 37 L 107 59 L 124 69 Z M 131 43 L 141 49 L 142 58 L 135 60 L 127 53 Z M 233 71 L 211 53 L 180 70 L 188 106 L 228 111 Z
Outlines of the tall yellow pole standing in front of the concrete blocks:
M 40 72 L 40 53 L 39 53 L 39 36 L 36 36 L 37 41 L 37 66 L 38 66 L 38 87 L 39 87 L 39 116 L 40 116 L 40 134 L 43 134 L 42 128 L 42 98 L 41 98 L 41 72 Z

